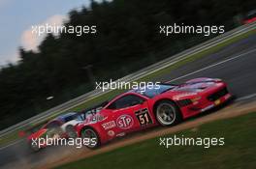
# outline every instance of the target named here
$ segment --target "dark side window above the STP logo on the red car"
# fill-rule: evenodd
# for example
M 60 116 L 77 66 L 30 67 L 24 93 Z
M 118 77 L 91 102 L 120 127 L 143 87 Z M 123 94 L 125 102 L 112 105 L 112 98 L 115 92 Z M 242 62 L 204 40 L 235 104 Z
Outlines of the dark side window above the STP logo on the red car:
M 119 109 L 125 108 L 132 105 L 140 104 L 144 102 L 144 99 L 137 97 L 135 95 L 127 95 L 120 99 L 116 99 L 112 104 L 108 107 L 109 109 Z

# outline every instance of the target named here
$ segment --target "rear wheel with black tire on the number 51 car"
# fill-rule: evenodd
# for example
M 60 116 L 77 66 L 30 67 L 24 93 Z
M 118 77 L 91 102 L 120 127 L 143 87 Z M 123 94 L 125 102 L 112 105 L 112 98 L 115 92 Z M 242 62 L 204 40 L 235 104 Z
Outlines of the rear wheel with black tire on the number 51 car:
M 84 138 L 90 139 L 89 144 L 85 145 L 88 149 L 96 149 L 101 145 L 99 134 L 92 127 L 84 127 L 81 130 L 80 135 L 81 135 L 82 139 L 84 139 Z M 94 139 L 94 141 L 92 141 L 91 139 Z

